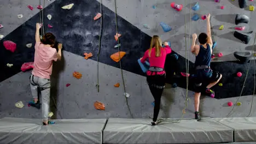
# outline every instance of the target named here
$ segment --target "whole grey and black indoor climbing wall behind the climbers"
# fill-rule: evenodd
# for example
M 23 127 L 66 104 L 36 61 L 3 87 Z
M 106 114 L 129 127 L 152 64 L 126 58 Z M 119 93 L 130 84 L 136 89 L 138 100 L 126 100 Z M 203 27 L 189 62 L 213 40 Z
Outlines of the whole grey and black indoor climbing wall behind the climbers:
M 3 0 L 2 0 L 3 1 Z M 31 71 L 20 72 L 20 67 L 25 62 L 33 61 L 33 46 L 26 47 L 26 44 L 34 45 L 35 23 L 40 22 L 39 10 L 36 8 L 38 2 L 22 1 L 15 3 L 13 0 L 4 2 L 2 7 L 9 5 L 17 13 L 4 13 L 8 11 L 0 9 L 0 23 L 4 25 L 0 29 L 0 34 L 4 38 L 0 41 L 0 117 L 27 117 L 40 118 L 40 110 L 27 107 L 27 101 L 32 96 L 30 93 L 30 83 L 28 77 Z M 1 1 L 0 1 L 1 2 Z M 153 35 L 160 35 L 162 41 L 170 41 L 171 48 L 178 53 L 177 62 L 167 57 L 166 70 L 176 71 L 176 73 L 185 72 L 185 59 L 189 59 L 189 71 L 192 71 L 195 57 L 189 50 L 192 33 L 201 33 L 206 31 L 206 21 L 190 20 L 194 14 L 205 15 L 211 13 L 211 24 L 214 40 L 217 41 L 217 47 L 214 53 L 223 53 L 223 57 L 212 59 L 211 67 L 223 74 L 222 87 L 218 85 L 213 87 L 216 91 L 216 99 L 202 96 L 201 113 L 204 117 L 226 117 L 232 107 L 228 107 L 228 102 L 237 100 L 243 87 L 246 71 L 249 67 L 249 73 L 245 85 L 245 90 L 239 102 L 241 106 L 236 106 L 232 116 L 245 117 L 248 115 L 252 104 L 253 94 L 253 62 L 251 65 L 238 64 L 233 52 L 252 51 L 253 38 L 249 44 L 243 44 L 240 40 L 234 38 L 235 15 L 245 14 L 251 18 L 248 24 L 242 23 L 239 26 L 246 26 L 245 32 L 255 31 L 255 13 L 247 9 L 240 9 L 238 1 L 220 1 L 213 0 L 199 1 L 200 9 L 198 11 L 190 10 L 195 1 L 153 1 L 153 0 L 117 0 L 118 28 L 120 37 L 121 51 L 126 52 L 122 58 L 122 67 L 124 83 L 121 76 L 120 65 L 110 59 L 110 55 L 118 52 L 117 41 L 114 39 L 116 32 L 115 7 L 114 0 L 103 0 L 102 5 L 102 45 L 99 55 L 99 67 L 97 75 L 97 53 L 98 38 L 100 34 L 100 19 L 94 21 L 94 16 L 100 13 L 100 0 L 88 1 L 69 1 L 56 0 L 45 1 L 44 19 L 46 32 L 52 32 L 56 35 L 57 41 L 63 43 L 62 61 L 54 63 L 53 75 L 51 77 L 51 111 L 55 113 L 55 118 L 103 118 L 103 117 L 122 117 L 130 118 L 130 112 L 124 97 L 125 86 L 126 93 L 130 94 L 128 104 L 133 117 L 148 118 L 153 113 L 153 97 L 150 94 L 146 83 L 146 77 L 142 73 L 137 59 L 143 56 L 144 51 L 149 47 L 150 39 Z M 171 2 L 183 4 L 182 11 L 176 11 L 170 7 Z M 43 2 L 41 2 L 43 4 Z M 62 6 L 74 3 L 70 10 L 61 9 Z M 255 2 L 248 1 L 248 4 Z M 27 8 L 27 5 L 34 7 L 33 11 Z M 153 6 L 155 6 L 153 8 Z M 224 9 L 220 9 L 224 6 Z M 3 11 L 2 11 L 3 10 Z M 19 19 L 18 14 L 24 17 Z M 52 19 L 48 20 L 46 15 L 51 14 Z M 29 15 L 29 16 L 27 16 Z M 42 14 L 43 15 L 43 14 Z M 16 22 L 19 21 L 19 22 Z M 165 22 L 172 27 L 170 32 L 164 32 L 160 22 Z M 14 23 L 15 26 L 11 26 Z M 187 23 L 187 25 L 185 25 Z M 14 25 L 13 24 L 13 25 Z M 48 28 L 47 25 L 53 26 Z M 147 24 L 149 28 L 143 25 Z M 223 30 L 219 26 L 224 25 Z M 187 45 L 185 40 L 187 39 Z M 11 40 L 17 44 L 14 53 L 4 49 L 3 41 Z M 187 46 L 187 47 L 186 47 Z M 84 58 L 84 53 L 92 53 L 89 59 Z M 7 67 L 7 63 L 13 64 L 13 67 Z M 177 63 L 177 67 L 174 65 Z M 78 71 L 83 76 L 81 79 L 73 77 L 73 72 Z M 236 77 L 238 71 L 242 72 L 242 77 Z M 167 77 L 172 74 L 168 73 Z M 173 80 L 167 79 L 167 86 L 164 91 L 161 103 L 159 117 L 179 118 L 182 116 L 182 110 L 185 100 L 185 79 L 177 79 L 177 88 L 172 88 Z M 97 83 L 97 80 L 99 83 Z M 119 87 L 114 87 L 116 83 Z M 100 91 L 97 92 L 96 85 L 99 84 Z M 191 86 L 189 90 L 193 90 Z M 247 95 L 247 96 L 246 96 Z M 188 92 L 190 103 L 188 111 L 184 117 L 194 117 L 193 92 Z M 15 107 L 17 101 L 22 101 L 25 106 L 22 109 Z M 94 102 L 100 101 L 106 107 L 106 110 L 96 110 Z M 256 113 L 252 111 L 252 116 Z

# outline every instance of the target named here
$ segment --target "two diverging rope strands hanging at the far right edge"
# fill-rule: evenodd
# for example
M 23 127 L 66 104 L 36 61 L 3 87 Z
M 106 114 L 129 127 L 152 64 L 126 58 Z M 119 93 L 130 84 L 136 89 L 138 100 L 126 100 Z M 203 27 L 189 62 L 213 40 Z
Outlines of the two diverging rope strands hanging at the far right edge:
M 256 40 L 256 33 L 255 33 L 255 36 L 254 36 L 254 41 L 253 41 L 253 48 L 252 48 L 252 55 L 253 55 L 253 51 L 254 51 L 254 44 L 255 44 L 255 40 Z M 254 61 L 254 89 L 253 89 L 253 95 L 252 95 L 252 104 L 251 104 L 251 109 L 250 109 L 250 112 L 249 112 L 249 115 L 251 115 L 251 112 L 252 112 L 252 106 L 253 106 L 253 97 L 254 97 L 254 91 L 255 91 L 255 60 Z M 248 73 L 249 73 L 249 69 L 250 69 L 250 65 L 251 65 L 251 62 L 252 62 L 252 57 L 250 59 L 250 62 L 249 62 L 249 65 L 248 65 L 248 68 L 247 68 L 247 71 L 246 71 L 246 77 L 245 77 L 245 81 L 243 82 L 243 87 L 242 87 L 242 90 L 241 90 L 241 93 L 240 93 L 240 96 L 237 98 L 235 104 L 233 105 L 231 111 L 229 112 L 228 116 L 227 117 L 230 117 L 231 116 L 231 113 L 233 112 L 233 110 L 235 109 L 235 106 L 238 102 L 238 100 L 241 98 L 242 96 L 242 93 L 243 93 L 243 88 L 245 88 L 245 83 L 246 83 L 246 80 L 247 80 L 247 76 L 248 76 Z M 249 115 L 247 117 L 249 117 Z

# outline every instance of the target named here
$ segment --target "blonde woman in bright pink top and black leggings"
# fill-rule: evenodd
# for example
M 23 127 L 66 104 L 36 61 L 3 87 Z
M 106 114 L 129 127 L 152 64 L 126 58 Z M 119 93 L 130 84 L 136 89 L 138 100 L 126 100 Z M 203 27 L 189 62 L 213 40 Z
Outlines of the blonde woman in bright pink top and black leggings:
M 152 125 L 156 125 L 155 122 L 160 110 L 162 91 L 164 91 L 165 87 L 165 58 L 168 53 L 172 52 L 167 42 L 164 43 L 165 47 L 161 47 L 161 44 L 161 39 L 157 35 L 154 35 L 149 50 L 147 50 L 141 58 L 142 63 L 144 63 L 147 58 L 149 58 L 150 63 L 149 70 L 147 71 L 147 82 L 150 92 L 155 99 Z

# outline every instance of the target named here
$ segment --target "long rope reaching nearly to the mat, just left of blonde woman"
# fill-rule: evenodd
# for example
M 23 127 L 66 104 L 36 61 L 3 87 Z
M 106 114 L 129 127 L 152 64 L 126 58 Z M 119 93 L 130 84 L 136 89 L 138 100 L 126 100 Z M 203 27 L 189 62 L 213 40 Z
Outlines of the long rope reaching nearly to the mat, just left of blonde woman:
M 116 23 L 116 26 L 117 26 L 116 28 L 117 28 L 117 33 L 118 33 L 117 0 L 115 0 L 115 23 Z M 120 70 L 121 70 L 121 77 L 122 77 L 122 80 L 123 80 L 124 96 L 125 96 L 125 99 L 126 99 L 126 105 L 128 107 L 128 110 L 130 112 L 131 117 L 133 118 L 132 112 L 131 112 L 131 109 L 130 109 L 130 106 L 129 106 L 129 103 L 128 103 L 128 98 L 126 97 L 126 88 L 125 88 L 124 74 L 123 74 L 123 69 L 122 69 L 122 64 L 121 64 L 121 56 L 120 56 L 119 38 L 118 38 L 118 52 L 119 52 L 119 65 L 120 65 Z

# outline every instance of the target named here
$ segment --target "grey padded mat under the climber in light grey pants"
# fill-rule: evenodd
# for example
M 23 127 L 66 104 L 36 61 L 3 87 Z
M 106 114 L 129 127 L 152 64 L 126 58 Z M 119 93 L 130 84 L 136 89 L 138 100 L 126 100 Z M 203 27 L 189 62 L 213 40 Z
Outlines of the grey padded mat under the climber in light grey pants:
M 106 119 L 56 119 L 43 126 L 40 119 L 0 119 L 0 143 L 102 143 Z

